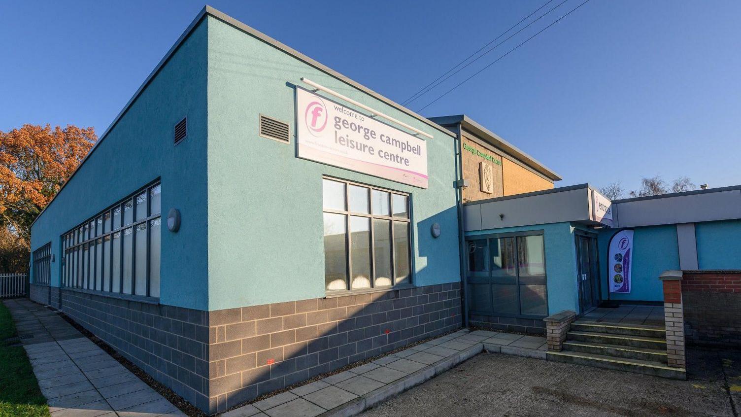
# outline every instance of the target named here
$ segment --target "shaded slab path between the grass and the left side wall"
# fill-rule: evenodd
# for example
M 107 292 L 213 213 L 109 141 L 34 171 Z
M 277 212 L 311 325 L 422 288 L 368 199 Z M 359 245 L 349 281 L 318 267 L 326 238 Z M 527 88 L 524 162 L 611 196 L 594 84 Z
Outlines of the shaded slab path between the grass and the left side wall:
M 3 303 L 52 417 L 185 416 L 55 312 L 24 298 Z

